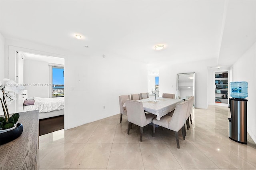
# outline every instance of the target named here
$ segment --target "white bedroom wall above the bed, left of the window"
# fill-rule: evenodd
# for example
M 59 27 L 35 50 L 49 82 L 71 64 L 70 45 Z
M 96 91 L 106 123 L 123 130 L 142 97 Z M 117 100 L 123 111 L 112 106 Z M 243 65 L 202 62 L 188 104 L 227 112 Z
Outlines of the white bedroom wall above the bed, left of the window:
M 23 77 L 23 83 L 28 90 L 28 97 L 49 97 L 49 87 L 45 85 L 49 83 L 48 62 L 24 59 Z

